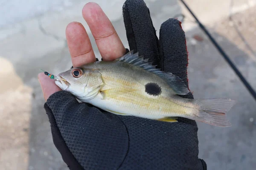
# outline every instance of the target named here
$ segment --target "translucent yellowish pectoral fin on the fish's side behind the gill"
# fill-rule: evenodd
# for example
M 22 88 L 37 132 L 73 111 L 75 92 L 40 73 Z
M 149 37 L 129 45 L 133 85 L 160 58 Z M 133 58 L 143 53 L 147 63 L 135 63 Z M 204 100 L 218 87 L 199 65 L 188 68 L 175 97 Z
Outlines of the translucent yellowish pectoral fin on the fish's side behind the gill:
M 122 94 L 126 94 L 132 91 L 137 91 L 134 88 L 111 88 L 104 91 L 100 91 L 103 96 L 103 99 L 115 98 L 117 96 L 121 96 Z

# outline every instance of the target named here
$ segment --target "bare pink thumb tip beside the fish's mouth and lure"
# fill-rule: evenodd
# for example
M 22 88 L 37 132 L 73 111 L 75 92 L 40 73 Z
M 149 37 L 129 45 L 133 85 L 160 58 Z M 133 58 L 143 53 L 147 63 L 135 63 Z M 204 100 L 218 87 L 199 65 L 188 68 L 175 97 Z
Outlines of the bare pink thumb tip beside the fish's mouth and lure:
M 55 85 L 55 80 L 50 79 L 44 73 L 38 74 L 38 81 L 41 85 L 45 101 L 47 101 L 49 96 L 51 96 L 55 92 L 61 91 L 61 89 L 57 85 Z

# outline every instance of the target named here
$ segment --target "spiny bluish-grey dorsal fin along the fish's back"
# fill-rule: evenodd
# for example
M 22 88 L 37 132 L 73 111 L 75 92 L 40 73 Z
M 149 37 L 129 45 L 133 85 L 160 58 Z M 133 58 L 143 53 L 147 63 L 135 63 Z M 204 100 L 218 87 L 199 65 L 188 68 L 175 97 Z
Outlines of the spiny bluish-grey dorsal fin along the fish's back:
M 156 74 L 166 80 L 176 94 L 185 95 L 189 93 L 189 89 L 183 83 L 182 79 L 172 73 L 166 73 L 161 71 L 160 68 L 156 68 L 156 65 L 152 65 L 152 62 L 148 62 L 148 59 L 143 59 L 143 56 L 139 56 L 138 52 L 134 54 L 134 51 L 132 50 L 122 57 L 117 58 L 115 61 L 128 62 Z

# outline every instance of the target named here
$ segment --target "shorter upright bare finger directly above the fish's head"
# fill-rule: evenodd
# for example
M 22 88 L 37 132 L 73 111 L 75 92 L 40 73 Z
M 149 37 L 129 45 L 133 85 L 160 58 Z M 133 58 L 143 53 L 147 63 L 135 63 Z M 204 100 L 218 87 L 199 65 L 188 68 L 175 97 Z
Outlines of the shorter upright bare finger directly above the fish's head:
M 81 23 L 70 23 L 66 28 L 66 38 L 73 67 L 96 61 L 90 39 Z

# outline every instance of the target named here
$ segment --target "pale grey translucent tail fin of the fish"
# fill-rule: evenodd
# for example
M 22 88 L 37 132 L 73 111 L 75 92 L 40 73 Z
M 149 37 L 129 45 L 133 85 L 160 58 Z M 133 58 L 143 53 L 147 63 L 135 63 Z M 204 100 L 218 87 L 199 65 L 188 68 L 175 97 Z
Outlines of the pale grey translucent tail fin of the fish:
M 226 113 L 236 104 L 236 101 L 219 98 L 195 99 L 194 102 L 199 106 L 199 112 L 195 116 L 195 120 L 220 127 L 231 126 Z

